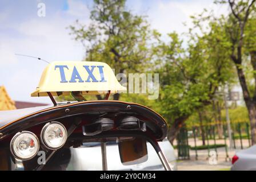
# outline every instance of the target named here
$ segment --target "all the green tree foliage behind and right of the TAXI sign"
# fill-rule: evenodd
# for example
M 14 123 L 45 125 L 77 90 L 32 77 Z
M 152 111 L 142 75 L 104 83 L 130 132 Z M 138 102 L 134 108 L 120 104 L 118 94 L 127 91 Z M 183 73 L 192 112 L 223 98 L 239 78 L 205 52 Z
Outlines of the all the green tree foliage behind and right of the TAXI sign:
M 187 32 L 185 40 L 189 41 L 184 46 L 176 32 L 170 32 L 169 40 L 163 41 L 159 32 L 151 30 L 146 17 L 132 14 L 125 2 L 94 0 L 89 26 L 77 20 L 69 27 L 71 35 L 85 45 L 86 61 L 105 62 L 115 69 L 115 73 L 159 73 L 161 88 L 157 101 L 148 100 L 147 94 L 122 94 L 120 100 L 149 106 L 169 123 L 179 125 L 179 119 L 198 122 L 199 110 L 206 113 L 204 122 L 214 121 L 210 105 L 214 99 L 222 102 L 216 92 L 223 85 L 237 84 L 235 67 L 245 69 L 250 93 L 254 93 L 255 84 L 251 84 L 251 79 L 256 78 L 256 66 L 254 68 L 248 59 L 256 47 L 253 11 L 245 27 L 242 51 L 247 62 L 238 65 L 230 58 L 237 52 L 234 45 L 238 44 L 241 32 L 231 14 L 215 17 L 212 11 L 205 9 L 201 14 L 191 16 L 193 28 Z M 222 0 L 214 2 L 227 3 Z M 248 1 L 239 1 L 234 9 L 242 12 L 246 6 Z M 244 17 L 242 13 L 241 18 Z M 222 110 L 222 121 L 225 121 L 224 112 Z M 230 109 L 230 118 L 231 122 L 248 119 L 246 108 Z

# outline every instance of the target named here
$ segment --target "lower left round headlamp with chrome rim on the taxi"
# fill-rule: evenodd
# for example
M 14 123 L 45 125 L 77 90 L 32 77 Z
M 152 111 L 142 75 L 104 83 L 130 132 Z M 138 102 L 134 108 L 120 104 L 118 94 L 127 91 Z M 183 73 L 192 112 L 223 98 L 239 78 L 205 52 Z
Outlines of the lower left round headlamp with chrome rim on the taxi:
M 39 150 L 39 140 L 37 136 L 30 131 L 17 133 L 11 139 L 11 153 L 17 159 L 28 160 L 37 155 Z

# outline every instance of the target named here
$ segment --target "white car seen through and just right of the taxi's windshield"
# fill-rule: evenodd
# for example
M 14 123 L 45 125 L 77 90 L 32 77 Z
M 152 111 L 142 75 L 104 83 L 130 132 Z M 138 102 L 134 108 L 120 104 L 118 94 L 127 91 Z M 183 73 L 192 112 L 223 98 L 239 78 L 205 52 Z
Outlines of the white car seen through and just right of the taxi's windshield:
M 163 142 L 158 143 L 173 170 L 177 170 L 174 148 L 169 140 L 164 139 Z M 118 144 L 115 142 L 107 142 L 106 155 L 108 170 L 164 170 L 157 153 L 149 142 L 147 142 L 147 161 L 141 164 L 125 166 L 121 163 L 121 160 L 118 161 L 119 150 Z M 67 169 L 75 171 L 102 170 L 101 144 L 99 142 L 90 142 L 84 143 L 79 148 L 71 148 L 71 158 Z

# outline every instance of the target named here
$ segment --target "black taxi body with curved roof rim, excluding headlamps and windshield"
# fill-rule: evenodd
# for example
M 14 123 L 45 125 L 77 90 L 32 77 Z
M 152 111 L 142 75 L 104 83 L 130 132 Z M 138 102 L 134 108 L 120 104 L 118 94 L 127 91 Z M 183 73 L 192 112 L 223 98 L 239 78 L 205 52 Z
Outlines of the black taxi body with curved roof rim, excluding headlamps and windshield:
M 165 169 L 170 170 L 157 143 L 166 137 L 167 124 L 161 115 L 146 106 L 121 101 L 82 101 L 53 107 L 38 107 L 31 109 L 31 113 L 27 109 L 23 113 L 22 115 L 15 114 L 15 111 L 0 112 L 0 170 L 11 170 L 14 169 L 13 164 L 21 163 L 15 160 L 10 151 L 10 141 L 16 133 L 31 131 L 40 140 L 42 127 L 51 121 L 60 122 L 67 129 L 68 138 L 63 148 L 78 147 L 85 141 L 102 142 L 111 137 L 139 136 L 153 145 Z M 145 125 L 146 130 L 119 127 L 119 122 L 127 117 L 137 118 Z M 93 125 L 101 118 L 114 121 L 113 127 L 94 135 L 83 134 L 84 126 Z M 40 150 L 46 152 L 47 160 L 50 160 L 54 152 L 58 152 L 58 150 L 50 150 L 43 146 L 41 140 Z M 47 169 L 47 164 L 39 165 L 37 158 L 23 161 L 22 164 L 25 170 Z

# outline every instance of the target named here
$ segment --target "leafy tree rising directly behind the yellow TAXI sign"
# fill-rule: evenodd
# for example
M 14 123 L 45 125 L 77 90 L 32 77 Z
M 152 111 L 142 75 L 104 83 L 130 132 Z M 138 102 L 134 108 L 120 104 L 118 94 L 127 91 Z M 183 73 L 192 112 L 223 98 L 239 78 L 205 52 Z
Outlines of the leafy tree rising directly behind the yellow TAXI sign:
M 102 61 L 115 73 L 143 72 L 151 53 L 152 32 L 144 16 L 133 15 L 125 0 L 94 0 L 88 27 L 77 22 L 71 34 L 86 47 L 86 61 Z M 99 98 L 99 96 L 98 96 Z M 114 100 L 119 94 L 114 95 Z

